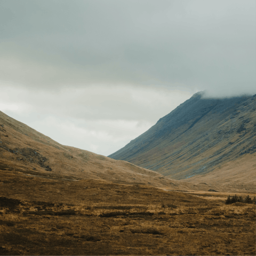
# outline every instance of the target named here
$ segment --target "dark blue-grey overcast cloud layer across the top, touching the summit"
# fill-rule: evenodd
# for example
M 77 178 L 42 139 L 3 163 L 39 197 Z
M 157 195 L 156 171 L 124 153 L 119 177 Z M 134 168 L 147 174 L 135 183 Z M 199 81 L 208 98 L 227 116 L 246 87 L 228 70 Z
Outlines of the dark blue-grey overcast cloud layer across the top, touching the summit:
M 252 0 L 1 1 L 1 79 L 253 93 L 255 9 Z

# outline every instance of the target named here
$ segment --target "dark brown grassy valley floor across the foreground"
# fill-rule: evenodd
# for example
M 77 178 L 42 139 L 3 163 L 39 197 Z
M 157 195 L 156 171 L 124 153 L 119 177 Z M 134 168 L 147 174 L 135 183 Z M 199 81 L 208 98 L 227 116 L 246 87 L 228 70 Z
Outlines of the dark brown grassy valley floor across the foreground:
M 227 195 L 0 170 L 0 255 L 256 255 L 256 205 Z

